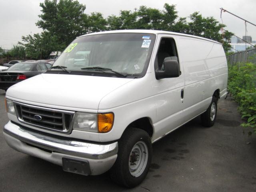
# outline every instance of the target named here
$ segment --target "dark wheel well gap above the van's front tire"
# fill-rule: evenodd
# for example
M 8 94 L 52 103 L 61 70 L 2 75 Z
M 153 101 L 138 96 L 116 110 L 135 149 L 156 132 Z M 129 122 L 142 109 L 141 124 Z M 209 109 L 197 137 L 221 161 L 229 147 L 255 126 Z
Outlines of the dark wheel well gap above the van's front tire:
M 147 117 L 143 117 L 143 118 L 135 120 L 134 122 L 130 123 L 127 128 L 129 128 L 129 127 L 135 127 L 138 129 L 142 129 L 142 130 L 146 131 L 150 137 L 152 137 L 152 135 L 153 135 L 153 127 L 150 123 L 149 118 L 147 118 Z

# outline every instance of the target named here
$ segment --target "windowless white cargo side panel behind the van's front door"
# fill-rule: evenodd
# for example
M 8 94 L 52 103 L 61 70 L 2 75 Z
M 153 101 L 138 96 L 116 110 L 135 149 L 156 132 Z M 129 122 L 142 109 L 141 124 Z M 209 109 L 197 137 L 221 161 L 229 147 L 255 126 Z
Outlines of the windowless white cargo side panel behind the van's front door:
M 196 38 L 178 39 L 180 61 L 184 66 L 184 120 L 204 112 L 215 90 L 226 92 L 227 64 L 221 44 Z

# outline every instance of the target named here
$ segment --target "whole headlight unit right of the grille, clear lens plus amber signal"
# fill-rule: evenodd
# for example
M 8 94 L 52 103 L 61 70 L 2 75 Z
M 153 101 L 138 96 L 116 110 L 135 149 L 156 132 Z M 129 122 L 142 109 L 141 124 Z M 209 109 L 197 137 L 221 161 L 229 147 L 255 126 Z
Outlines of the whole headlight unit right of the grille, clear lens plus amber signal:
M 113 123 L 113 113 L 96 114 L 76 112 L 73 129 L 106 133 L 112 129 Z

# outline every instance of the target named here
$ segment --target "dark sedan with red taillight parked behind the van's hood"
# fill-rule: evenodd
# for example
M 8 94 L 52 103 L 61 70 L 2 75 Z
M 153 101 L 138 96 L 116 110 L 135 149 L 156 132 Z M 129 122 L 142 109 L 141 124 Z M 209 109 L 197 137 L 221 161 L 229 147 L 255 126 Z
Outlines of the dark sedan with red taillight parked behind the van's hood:
M 0 89 L 7 90 L 10 86 L 46 72 L 52 65 L 44 62 L 21 62 L 8 70 L 0 72 Z

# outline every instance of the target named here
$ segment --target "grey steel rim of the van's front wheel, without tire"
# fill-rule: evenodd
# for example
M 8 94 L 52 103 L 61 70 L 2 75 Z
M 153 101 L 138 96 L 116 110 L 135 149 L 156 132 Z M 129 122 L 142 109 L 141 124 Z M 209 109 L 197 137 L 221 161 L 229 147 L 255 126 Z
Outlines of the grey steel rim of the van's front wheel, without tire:
M 139 177 L 148 163 L 148 146 L 144 141 L 137 142 L 130 152 L 129 171 L 134 177 Z

